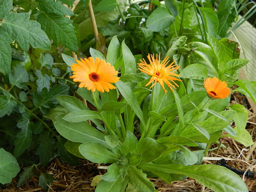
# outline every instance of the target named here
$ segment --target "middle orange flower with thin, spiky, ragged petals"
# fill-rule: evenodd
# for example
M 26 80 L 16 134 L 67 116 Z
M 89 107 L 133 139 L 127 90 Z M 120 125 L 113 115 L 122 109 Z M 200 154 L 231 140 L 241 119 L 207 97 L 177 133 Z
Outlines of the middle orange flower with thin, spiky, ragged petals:
M 147 58 L 148 61 L 150 62 L 150 65 L 148 65 L 144 59 L 143 61 L 140 60 L 141 63 L 138 63 L 138 65 L 140 66 L 139 70 L 141 70 L 141 72 L 144 72 L 145 74 L 152 76 L 150 81 L 148 81 L 148 83 L 146 84 L 146 86 L 148 86 L 148 84 L 152 83 L 153 81 L 154 83 L 152 84 L 152 86 L 154 86 L 158 82 L 164 89 L 164 93 L 166 93 L 167 91 L 164 88 L 164 83 L 166 83 L 168 87 L 170 87 L 170 89 L 173 91 L 172 87 L 175 88 L 173 84 L 178 86 L 174 81 L 181 81 L 180 79 L 176 78 L 180 75 L 174 73 L 179 68 L 179 66 L 174 67 L 175 65 L 173 65 L 173 61 L 170 65 L 166 67 L 166 65 L 169 62 L 168 56 L 166 56 L 166 58 L 164 58 L 162 62 L 160 62 L 160 54 L 158 59 L 157 55 L 155 59 L 153 54 L 148 54 Z M 170 83 L 170 81 L 172 81 L 173 84 Z M 152 86 L 150 86 L 150 88 L 152 88 Z

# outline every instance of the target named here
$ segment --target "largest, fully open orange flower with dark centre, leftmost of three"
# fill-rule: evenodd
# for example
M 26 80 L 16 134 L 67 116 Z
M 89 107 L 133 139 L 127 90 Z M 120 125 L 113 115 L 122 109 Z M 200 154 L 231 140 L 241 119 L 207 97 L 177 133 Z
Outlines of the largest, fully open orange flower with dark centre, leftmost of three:
M 116 77 L 118 72 L 110 63 L 106 63 L 105 60 L 96 58 L 94 61 L 92 57 L 76 60 L 77 63 L 71 65 L 74 76 L 70 78 L 75 82 L 81 82 L 79 87 L 86 87 L 88 90 L 98 90 L 99 92 L 109 92 L 109 89 L 115 89 L 115 86 L 111 83 L 116 83 L 119 77 Z

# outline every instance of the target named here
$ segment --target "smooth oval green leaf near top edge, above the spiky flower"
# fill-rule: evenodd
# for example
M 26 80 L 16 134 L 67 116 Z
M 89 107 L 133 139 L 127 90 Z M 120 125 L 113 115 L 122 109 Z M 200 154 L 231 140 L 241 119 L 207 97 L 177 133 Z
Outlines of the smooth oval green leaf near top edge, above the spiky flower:
M 174 21 L 175 18 L 170 12 L 166 8 L 160 7 L 149 15 L 146 25 L 148 29 L 157 32 L 168 28 Z

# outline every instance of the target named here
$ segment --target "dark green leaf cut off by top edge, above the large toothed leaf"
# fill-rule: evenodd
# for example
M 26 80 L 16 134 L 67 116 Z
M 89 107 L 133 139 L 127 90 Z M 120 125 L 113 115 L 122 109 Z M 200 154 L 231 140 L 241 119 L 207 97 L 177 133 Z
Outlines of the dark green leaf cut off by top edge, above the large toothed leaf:
M 52 0 L 36 0 L 37 6 L 40 10 L 46 13 L 55 13 L 57 15 L 74 15 L 66 6 L 62 5 L 60 1 Z

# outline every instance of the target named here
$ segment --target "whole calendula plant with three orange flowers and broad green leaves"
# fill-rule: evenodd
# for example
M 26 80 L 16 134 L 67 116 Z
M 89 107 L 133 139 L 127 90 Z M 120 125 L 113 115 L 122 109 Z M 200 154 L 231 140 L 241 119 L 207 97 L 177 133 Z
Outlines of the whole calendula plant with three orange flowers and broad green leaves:
M 137 65 L 125 42 L 120 45 L 116 36 L 106 58 L 95 49 L 90 52 L 88 59 L 74 61 L 64 54 L 63 59 L 71 65 L 71 78 L 79 82 L 77 97 L 92 105 L 88 108 L 76 97 L 58 96 L 68 113 L 53 122 L 67 138 L 69 152 L 93 163 L 110 163 L 96 191 L 125 191 L 128 184 L 138 191 L 156 191 L 147 177 L 169 184 L 193 177 L 214 191 L 247 191 L 243 180 L 227 168 L 201 164 L 222 131 L 233 138 L 242 137 L 245 131 L 246 119 L 242 125 L 238 116 L 246 111 L 239 104 L 228 106 L 230 88 L 219 75 L 200 68 L 189 70 L 196 64 L 180 70 L 181 61 L 170 63 L 169 56 L 161 61 L 160 55 L 148 55 L 148 61 L 140 60 Z M 237 70 L 243 60 L 236 61 L 232 66 Z M 214 68 L 219 74 L 219 67 Z M 191 76 L 206 76 L 198 80 L 198 89 L 189 85 L 188 70 Z M 237 129 L 230 127 L 232 120 Z M 198 150 L 200 143 L 208 144 Z

